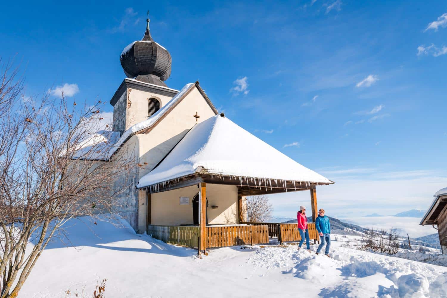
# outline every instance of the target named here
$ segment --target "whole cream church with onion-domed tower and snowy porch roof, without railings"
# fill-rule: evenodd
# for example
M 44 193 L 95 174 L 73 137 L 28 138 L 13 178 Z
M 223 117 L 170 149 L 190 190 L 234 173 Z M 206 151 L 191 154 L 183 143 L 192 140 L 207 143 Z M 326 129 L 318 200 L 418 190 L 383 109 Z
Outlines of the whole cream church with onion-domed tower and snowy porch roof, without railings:
M 129 183 L 119 211 L 135 231 L 178 227 L 180 239 L 181 227 L 193 227 L 194 243 L 205 248 L 206 227 L 244 225 L 246 196 L 303 190 L 311 193 L 315 221 L 316 186 L 333 181 L 219 113 L 199 82 L 169 88 L 171 55 L 152 39 L 149 19 L 143 39 L 124 48 L 120 61 L 127 78 L 110 100 L 112 131 L 103 134 L 111 150 L 89 158 L 135 160 L 130 176 L 116 178 Z

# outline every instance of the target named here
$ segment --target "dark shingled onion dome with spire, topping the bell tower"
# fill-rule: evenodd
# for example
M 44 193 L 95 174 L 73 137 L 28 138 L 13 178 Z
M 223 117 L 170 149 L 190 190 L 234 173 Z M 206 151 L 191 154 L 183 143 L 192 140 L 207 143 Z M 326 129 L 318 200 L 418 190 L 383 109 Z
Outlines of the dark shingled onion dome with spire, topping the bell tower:
M 127 77 L 167 87 L 164 81 L 171 75 L 171 54 L 154 42 L 149 30 L 149 17 L 146 21 L 148 25 L 143 39 L 126 46 L 119 60 Z

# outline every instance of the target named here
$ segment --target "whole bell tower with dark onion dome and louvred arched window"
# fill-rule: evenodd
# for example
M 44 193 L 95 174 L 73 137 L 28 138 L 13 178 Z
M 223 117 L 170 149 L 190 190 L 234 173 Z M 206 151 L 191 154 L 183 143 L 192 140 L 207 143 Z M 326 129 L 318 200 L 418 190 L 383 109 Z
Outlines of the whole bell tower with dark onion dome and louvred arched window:
M 143 39 L 122 50 L 119 60 L 127 78 L 110 100 L 114 107 L 113 130 L 122 135 L 163 107 L 178 90 L 164 83 L 171 75 L 171 54 L 152 39 L 149 17 Z

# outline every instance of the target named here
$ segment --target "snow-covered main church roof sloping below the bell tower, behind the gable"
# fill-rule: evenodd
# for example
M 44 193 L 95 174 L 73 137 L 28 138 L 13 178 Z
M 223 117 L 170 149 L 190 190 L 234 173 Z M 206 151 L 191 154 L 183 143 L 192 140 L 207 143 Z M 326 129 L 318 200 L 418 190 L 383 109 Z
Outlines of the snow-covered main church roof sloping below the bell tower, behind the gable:
M 153 126 L 157 120 L 162 118 L 168 111 L 177 103 L 177 101 L 181 100 L 183 95 L 192 88 L 194 83 L 186 84 L 183 88 L 181 88 L 180 92 L 177 93 L 176 96 L 174 96 L 166 105 L 164 105 L 161 109 L 159 109 L 156 113 L 154 113 L 151 117 L 148 119 L 139 122 L 131 127 L 129 127 L 120 138 L 119 132 L 114 131 L 113 137 L 110 138 L 106 135 L 103 135 L 103 133 L 98 132 L 96 134 L 92 134 L 92 136 L 87 139 L 87 141 L 81 146 L 80 150 L 76 152 L 74 158 L 79 158 L 79 155 L 82 154 L 82 159 L 101 159 L 101 160 L 108 160 L 114 153 L 122 146 L 123 143 L 127 141 L 133 134 L 139 132 L 140 130 L 144 130 L 147 128 L 150 128 Z M 98 135 L 99 134 L 99 135 Z M 117 135 L 118 134 L 118 135 Z M 102 147 L 104 150 L 101 150 L 101 152 L 97 153 L 96 151 L 90 152 L 92 150 L 89 150 L 90 147 L 93 145 L 97 145 L 98 143 L 104 142 L 105 139 L 107 139 L 108 145 L 107 147 Z M 101 149 L 102 149 L 101 148 Z

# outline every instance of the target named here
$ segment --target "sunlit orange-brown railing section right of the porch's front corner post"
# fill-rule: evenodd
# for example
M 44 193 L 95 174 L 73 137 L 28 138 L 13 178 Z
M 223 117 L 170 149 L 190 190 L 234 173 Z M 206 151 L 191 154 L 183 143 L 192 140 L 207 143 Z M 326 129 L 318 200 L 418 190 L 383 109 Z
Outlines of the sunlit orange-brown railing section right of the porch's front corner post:
M 207 227 L 207 248 L 269 243 L 267 225 Z

